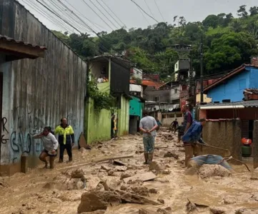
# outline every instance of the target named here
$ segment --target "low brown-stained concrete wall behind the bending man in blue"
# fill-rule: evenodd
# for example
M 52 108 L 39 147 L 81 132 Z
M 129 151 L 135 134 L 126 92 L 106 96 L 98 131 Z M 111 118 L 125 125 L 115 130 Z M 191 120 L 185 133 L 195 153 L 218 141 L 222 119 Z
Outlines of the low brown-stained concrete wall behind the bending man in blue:
M 241 121 L 236 119 L 228 121 L 207 121 L 202 131 L 204 141 L 210 146 L 228 149 L 238 160 L 242 160 Z M 224 151 L 204 147 L 205 154 L 224 156 Z

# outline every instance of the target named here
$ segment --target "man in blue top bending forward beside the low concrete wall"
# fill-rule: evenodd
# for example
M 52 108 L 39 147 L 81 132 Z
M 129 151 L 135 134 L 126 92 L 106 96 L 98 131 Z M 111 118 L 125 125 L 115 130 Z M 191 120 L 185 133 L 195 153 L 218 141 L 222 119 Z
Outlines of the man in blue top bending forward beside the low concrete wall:
M 184 142 L 185 148 L 185 165 L 187 166 L 188 161 L 197 153 L 197 141 L 202 144 L 206 144 L 202 140 L 202 128 L 206 124 L 206 119 L 202 118 L 199 122 L 194 121 L 192 126 L 184 134 L 182 141 Z

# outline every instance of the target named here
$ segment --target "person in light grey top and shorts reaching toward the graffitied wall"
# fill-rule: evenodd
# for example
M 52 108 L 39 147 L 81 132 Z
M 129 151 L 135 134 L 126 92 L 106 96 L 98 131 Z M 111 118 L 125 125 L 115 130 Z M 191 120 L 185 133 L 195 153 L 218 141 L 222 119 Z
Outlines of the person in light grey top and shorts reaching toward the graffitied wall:
M 45 163 L 44 168 L 47 168 L 48 166 L 46 161 L 46 157 L 48 156 L 50 168 L 54 168 L 54 158 L 56 158 L 59 143 L 55 136 L 51 133 L 51 127 L 45 127 L 42 133 L 34 135 L 33 138 L 41 138 L 43 141 L 44 150 L 41 151 L 39 159 Z

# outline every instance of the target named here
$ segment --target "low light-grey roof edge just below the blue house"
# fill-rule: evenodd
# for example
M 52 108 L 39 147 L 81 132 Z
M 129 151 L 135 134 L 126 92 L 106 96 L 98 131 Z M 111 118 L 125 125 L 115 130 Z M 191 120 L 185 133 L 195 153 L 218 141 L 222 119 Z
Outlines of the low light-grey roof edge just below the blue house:
M 256 101 L 240 101 L 234 103 L 207 103 L 200 106 L 201 109 L 226 109 L 226 108 L 257 108 L 258 100 Z

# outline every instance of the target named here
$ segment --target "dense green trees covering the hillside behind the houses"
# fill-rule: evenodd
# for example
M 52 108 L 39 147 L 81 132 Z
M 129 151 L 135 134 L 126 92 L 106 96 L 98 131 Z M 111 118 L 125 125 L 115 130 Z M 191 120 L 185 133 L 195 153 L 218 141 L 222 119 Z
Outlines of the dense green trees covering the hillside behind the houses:
M 239 6 L 237 17 L 232 14 L 211 14 L 202 22 L 187 22 L 184 16 L 174 16 L 174 22 L 161 22 L 147 29 L 117 29 L 97 36 L 53 31 L 79 56 L 87 58 L 103 53 L 126 53 L 145 73 L 159 73 L 162 79 L 172 76 L 179 56 L 174 44 L 192 45 L 192 65 L 199 73 L 199 46 L 204 39 L 204 74 L 229 71 L 250 56 L 258 54 L 258 6 Z

